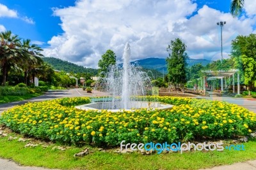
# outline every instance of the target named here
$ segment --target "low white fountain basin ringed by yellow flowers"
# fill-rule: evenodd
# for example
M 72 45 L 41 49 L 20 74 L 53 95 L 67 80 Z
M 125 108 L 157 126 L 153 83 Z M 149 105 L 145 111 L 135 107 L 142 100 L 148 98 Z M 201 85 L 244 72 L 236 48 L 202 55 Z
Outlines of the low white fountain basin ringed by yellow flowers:
M 128 108 L 122 108 L 122 102 L 116 102 L 113 106 L 112 102 L 98 102 L 83 104 L 80 106 L 75 106 L 79 110 L 108 110 L 111 112 L 118 111 L 134 111 L 138 109 L 148 109 L 148 110 L 168 110 L 173 107 L 172 104 L 165 104 L 159 102 L 148 102 L 148 101 L 131 101 L 129 102 Z

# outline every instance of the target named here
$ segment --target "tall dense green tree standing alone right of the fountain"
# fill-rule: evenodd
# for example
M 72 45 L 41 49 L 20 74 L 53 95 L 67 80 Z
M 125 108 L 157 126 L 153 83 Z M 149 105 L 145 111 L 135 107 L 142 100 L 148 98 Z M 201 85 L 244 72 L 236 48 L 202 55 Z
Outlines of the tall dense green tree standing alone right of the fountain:
M 176 38 L 175 41 L 171 41 L 166 50 L 169 52 L 169 57 L 166 59 L 169 81 L 175 84 L 186 83 L 186 66 L 188 65 L 186 45 Z

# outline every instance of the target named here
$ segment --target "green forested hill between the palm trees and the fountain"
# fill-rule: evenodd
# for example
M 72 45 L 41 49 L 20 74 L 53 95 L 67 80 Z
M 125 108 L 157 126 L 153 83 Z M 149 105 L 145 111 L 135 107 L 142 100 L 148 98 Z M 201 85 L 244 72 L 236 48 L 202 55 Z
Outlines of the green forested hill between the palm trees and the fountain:
M 97 69 L 84 68 L 83 66 L 78 66 L 72 62 L 66 60 L 56 59 L 54 57 L 42 57 L 44 62 L 48 62 L 51 66 L 60 71 L 65 71 L 67 73 L 92 73 L 95 76 L 98 73 Z

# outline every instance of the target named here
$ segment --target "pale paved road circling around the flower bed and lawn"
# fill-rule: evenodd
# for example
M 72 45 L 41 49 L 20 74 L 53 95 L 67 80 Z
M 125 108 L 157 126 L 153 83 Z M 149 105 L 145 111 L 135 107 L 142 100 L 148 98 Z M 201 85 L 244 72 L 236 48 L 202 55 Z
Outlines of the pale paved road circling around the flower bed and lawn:
M 79 96 L 108 96 L 106 93 L 93 91 L 92 94 L 88 94 L 82 89 L 70 89 L 70 90 L 51 90 L 46 92 L 43 96 L 35 97 L 33 99 L 28 99 L 26 101 L 19 101 L 7 104 L 0 104 L 0 115 L 4 110 L 8 110 L 13 106 L 28 103 L 28 102 L 38 102 L 38 101 L 45 101 L 50 99 L 56 99 L 60 97 L 79 97 Z M 247 99 L 234 99 L 231 97 L 197 97 L 197 98 L 205 98 L 211 100 L 218 100 L 218 101 L 227 101 L 229 103 L 239 104 L 248 108 L 249 110 L 255 111 L 256 113 L 256 101 L 250 101 Z M 0 144 L 1 145 L 1 144 Z M 28 167 L 28 166 L 20 166 L 13 162 L 12 160 L 8 159 L 0 159 L 0 170 L 50 170 L 45 169 L 44 167 Z M 256 170 L 256 160 L 250 160 L 247 162 L 240 162 L 236 164 L 232 164 L 230 166 L 218 166 L 213 167 L 209 170 L 220 170 L 220 169 L 227 169 L 227 170 L 242 170 L 242 169 L 255 169 Z

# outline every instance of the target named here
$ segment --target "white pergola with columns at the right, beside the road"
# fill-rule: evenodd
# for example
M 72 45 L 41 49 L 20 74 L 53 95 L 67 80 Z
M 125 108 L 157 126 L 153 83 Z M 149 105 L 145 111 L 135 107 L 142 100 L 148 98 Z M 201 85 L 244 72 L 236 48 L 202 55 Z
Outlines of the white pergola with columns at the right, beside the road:
M 234 93 L 235 93 L 235 74 L 237 74 L 237 94 L 240 94 L 239 69 L 229 69 L 227 71 L 225 71 L 225 70 L 219 70 L 219 71 L 205 70 L 205 71 L 202 71 L 202 73 L 206 74 L 206 76 L 204 76 L 201 79 L 201 87 L 203 87 L 204 92 L 205 92 L 205 81 L 221 80 L 221 91 L 223 91 L 223 78 L 225 78 L 225 87 L 227 87 L 227 77 L 230 80 L 230 77 L 232 76 L 232 87 L 233 87 Z M 204 81 L 203 86 L 202 86 L 202 80 Z M 216 81 L 212 81 L 211 90 L 216 90 Z

